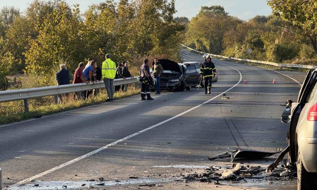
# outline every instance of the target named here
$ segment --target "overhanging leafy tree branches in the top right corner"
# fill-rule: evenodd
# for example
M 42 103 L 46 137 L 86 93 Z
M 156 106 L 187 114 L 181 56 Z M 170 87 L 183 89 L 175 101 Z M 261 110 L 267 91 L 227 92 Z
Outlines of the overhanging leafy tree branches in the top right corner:
M 268 0 L 273 13 L 288 21 L 308 38 L 317 55 L 316 0 Z

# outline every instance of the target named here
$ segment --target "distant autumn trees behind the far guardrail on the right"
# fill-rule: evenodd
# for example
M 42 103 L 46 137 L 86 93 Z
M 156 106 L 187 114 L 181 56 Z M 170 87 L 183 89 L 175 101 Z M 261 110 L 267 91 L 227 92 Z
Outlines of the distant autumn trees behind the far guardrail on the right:
M 198 15 L 190 21 L 186 18 L 178 18 L 178 21 L 187 23 L 185 43 L 203 52 L 229 57 L 276 63 L 295 61 L 295 63 L 316 64 L 317 35 L 314 29 L 316 30 L 317 27 L 300 27 L 306 22 L 309 23 L 309 13 L 295 17 L 296 12 L 294 10 L 292 13 L 293 8 L 297 8 L 298 15 L 305 10 L 298 9 L 296 4 L 286 2 L 283 4 L 277 1 L 285 0 L 268 1 L 277 16 L 256 16 L 249 21 L 241 21 L 228 15 L 221 6 L 203 6 Z M 314 2 L 314 0 L 308 1 Z M 299 0 L 297 6 L 301 6 L 300 3 L 304 2 Z M 288 11 L 287 14 L 286 11 Z M 294 18 L 302 20 L 294 21 L 294 19 L 285 18 L 285 15 L 290 15 L 292 18 L 292 14 Z M 316 25 L 317 22 L 315 21 L 314 24 Z M 316 48 L 315 51 L 314 48 Z M 249 49 L 252 50 L 251 54 L 248 53 Z

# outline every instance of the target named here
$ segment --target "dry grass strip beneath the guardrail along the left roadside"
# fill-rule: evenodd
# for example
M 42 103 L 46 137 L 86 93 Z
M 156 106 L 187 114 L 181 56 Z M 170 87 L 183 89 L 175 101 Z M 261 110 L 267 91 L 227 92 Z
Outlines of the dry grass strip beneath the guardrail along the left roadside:
M 137 95 L 140 89 L 133 84 L 129 85 L 127 92 L 118 92 L 114 94 L 114 99 L 122 99 Z M 37 118 L 53 113 L 68 111 L 80 107 L 98 105 L 104 103 L 107 99 L 107 93 L 104 89 L 100 89 L 99 96 L 92 96 L 86 100 L 73 100 L 73 93 L 70 93 L 67 99 L 63 96 L 63 103 L 54 104 L 54 96 L 47 96 L 42 98 L 29 100 L 29 112 L 24 112 L 23 101 L 0 103 L 0 125 L 19 122 L 22 120 Z

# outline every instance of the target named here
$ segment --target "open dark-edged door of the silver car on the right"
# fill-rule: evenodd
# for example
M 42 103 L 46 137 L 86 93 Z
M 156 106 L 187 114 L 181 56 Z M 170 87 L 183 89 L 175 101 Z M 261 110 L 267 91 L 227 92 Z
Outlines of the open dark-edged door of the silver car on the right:
M 291 112 L 291 122 L 289 127 L 289 159 L 292 164 L 297 162 L 297 150 L 296 150 L 296 127 L 298 123 L 298 118 L 301 113 L 303 106 L 305 106 L 306 100 L 309 96 L 309 92 L 311 88 L 314 86 L 314 82 L 317 79 L 317 70 L 310 69 L 306 75 L 304 83 L 302 84 L 299 93 L 297 102 L 292 104 L 292 112 Z

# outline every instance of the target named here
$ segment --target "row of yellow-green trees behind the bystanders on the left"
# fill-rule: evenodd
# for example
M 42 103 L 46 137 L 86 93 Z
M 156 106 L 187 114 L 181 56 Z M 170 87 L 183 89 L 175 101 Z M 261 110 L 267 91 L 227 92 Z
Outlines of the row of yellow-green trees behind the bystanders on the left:
M 116 62 L 138 63 L 143 57 L 179 60 L 175 0 L 107 0 L 82 13 L 64 0 L 34 0 L 25 11 L 0 10 L 0 76 L 26 73 L 35 83 L 52 84 L 60 63 L 74 71 L 109 53 Z

